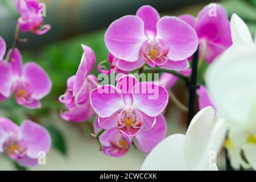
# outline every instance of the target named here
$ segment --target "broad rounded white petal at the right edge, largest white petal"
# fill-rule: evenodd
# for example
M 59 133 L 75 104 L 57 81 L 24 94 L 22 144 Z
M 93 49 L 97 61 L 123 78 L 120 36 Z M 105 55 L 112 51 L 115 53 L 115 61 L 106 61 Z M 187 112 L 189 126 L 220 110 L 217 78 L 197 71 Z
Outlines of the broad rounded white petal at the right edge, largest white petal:
M 255 123 L 256 47 L 232 46 L 208 68 L 209 94 L 233 129 L 244 130 Z

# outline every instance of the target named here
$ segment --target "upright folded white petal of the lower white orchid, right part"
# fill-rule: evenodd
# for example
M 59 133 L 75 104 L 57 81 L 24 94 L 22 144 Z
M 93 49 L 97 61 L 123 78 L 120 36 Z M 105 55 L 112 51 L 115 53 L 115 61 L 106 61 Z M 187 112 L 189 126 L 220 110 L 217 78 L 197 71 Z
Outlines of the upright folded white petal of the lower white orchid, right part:
M 225 138 L 226 126 L 223 120 L 212 122 L 213 107 L 205 107 L 192 119 L 184 140 L 184 158 L 195 170 L 208 168 L 212 152 L 217 156 Z

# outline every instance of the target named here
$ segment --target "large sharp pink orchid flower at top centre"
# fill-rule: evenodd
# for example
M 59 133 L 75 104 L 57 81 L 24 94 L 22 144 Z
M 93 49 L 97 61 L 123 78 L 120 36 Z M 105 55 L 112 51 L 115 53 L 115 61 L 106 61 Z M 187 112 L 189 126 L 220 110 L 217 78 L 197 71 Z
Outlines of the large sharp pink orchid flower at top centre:
M 105 44 L 117 57 L 117 67 L 133 71 L 144 63 L 150 67 L 183 70 L 198 46 L 195 30 L 175 16 L 159 18 L 151 6 L 136 15 L 123 16 L 110 24 Z

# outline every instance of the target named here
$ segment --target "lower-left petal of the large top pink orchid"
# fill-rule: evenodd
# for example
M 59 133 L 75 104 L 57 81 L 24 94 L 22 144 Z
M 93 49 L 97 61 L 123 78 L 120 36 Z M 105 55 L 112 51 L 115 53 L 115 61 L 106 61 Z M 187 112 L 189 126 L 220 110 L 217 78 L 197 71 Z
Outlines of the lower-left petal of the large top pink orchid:
M 143 60 L 143 55 L 139 56 L 139 59 L 134 62 L 128 62 L 125 60 L 118 59 L 117 61 L 117 67 L 121 69 L 122 71 L 131 72 L 135 69 L 141 68 L 145 64 L 145 61 Z

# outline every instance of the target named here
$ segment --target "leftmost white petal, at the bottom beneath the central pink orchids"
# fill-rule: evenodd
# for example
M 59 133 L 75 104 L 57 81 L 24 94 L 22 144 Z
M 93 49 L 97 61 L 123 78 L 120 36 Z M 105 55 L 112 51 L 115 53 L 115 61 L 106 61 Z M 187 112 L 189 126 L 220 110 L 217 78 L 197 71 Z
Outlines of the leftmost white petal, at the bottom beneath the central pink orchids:
M 182 134 L 164 139 L 147 155 L 141 170 L 189 170 L 184 162 L 184 139 L 185 135 Z

